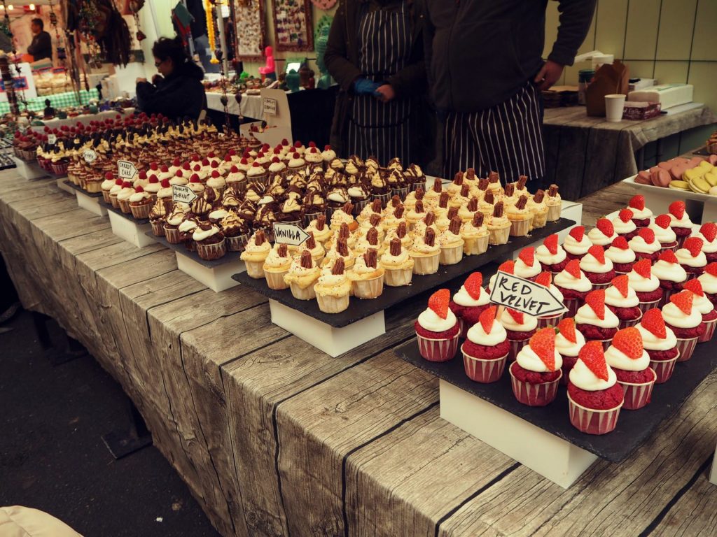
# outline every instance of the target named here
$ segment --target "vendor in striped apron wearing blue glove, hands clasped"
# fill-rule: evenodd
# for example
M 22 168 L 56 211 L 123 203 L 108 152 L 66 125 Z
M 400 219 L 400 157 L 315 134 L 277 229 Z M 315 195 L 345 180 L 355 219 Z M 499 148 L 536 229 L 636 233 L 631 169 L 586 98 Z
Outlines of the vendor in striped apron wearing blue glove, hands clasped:
M 414 0 L 342 0 L 324 62 L 340 89 L 331 127 L 338 155 L 380 163 L 425 157 L 422 13 Z

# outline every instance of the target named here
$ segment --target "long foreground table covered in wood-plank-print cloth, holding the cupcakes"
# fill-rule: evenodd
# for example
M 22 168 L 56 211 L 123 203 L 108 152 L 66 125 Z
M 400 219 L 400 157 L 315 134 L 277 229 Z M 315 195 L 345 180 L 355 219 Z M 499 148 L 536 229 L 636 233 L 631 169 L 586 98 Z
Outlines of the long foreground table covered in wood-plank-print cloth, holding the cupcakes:
M 586 220 L 625 200 L 585 200 Z M 272 325 L 259 294 L 216 294 L 172 251 L 114 236 L 54 180 L 11 171 L 0 248 L 23 305 L 118 379 L 224 536 L 717 532 L 716 374 L 630 459 L 564 490 L 442 420 L 437 379 L 394 356 L 425 296 L 331 358 Z

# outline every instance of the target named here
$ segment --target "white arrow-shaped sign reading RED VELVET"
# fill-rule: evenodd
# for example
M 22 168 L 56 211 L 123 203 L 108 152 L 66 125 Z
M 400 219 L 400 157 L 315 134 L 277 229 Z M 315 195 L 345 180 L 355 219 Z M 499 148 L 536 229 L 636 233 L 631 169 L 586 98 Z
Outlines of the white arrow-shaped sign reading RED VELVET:
M 535 317 L 567 311 L 565 304 L 546 286 L 503 271 L 495 274 L 495 285 L 490 289 L 490 301 Z

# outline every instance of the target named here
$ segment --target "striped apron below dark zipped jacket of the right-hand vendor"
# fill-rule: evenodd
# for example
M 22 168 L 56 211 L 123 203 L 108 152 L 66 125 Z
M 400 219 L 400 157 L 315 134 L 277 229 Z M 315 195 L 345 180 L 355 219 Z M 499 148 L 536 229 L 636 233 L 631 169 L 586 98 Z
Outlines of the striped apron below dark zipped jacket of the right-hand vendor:
M 480 112 L 450 112 L 445 124 L 445 177 L 475 168 L 500 173 L 503 183 L 545 175 L 540 90 L 528 81 L 510 99 Z

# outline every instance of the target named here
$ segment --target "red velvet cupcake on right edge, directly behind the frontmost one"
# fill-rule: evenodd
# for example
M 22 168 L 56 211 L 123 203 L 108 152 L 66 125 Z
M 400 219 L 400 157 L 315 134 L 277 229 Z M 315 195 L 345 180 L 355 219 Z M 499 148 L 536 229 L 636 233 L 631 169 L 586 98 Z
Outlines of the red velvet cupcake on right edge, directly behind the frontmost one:
M 642 335 L 634 326 L 618 330 L 605 351 L 605 361 L 612 367 L 617 384 L 625 396 L 625 410 L 639 410 L 652 399 L 657 374 L 650 367 L 650 356 L 642 347 Z

